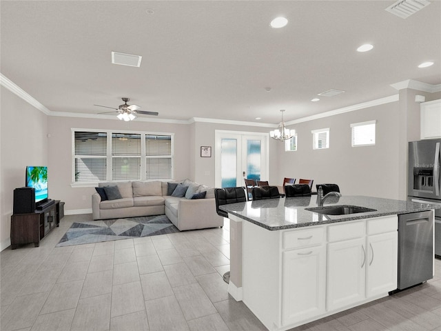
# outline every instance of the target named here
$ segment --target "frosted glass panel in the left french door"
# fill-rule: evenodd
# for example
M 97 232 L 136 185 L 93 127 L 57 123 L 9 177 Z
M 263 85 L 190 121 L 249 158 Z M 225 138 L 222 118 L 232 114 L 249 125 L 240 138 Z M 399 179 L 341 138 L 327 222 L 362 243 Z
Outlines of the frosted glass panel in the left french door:
M 223 188 L 236 187 L 237 139 L 222 139 L 220 143 L 220 178 Z

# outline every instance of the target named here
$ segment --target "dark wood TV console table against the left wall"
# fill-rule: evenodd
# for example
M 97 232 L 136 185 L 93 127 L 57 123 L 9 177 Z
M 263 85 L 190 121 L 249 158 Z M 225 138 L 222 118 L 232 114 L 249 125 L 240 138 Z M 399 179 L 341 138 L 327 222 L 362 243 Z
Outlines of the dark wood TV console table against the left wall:
M 41 239 L 46 237 L 55 226 L 60 226 L 60 201 L 48 205 L 42 210 L 28 214 L 13 214 L 11 217 L 11 248 L 34 243 L 39 247 Z

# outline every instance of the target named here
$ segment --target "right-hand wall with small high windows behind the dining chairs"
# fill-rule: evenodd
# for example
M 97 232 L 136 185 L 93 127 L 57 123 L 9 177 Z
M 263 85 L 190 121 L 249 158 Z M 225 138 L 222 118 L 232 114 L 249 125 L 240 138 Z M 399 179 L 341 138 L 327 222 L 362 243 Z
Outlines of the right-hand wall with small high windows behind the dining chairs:
M 398 198 L 398 102 L 298 123 L 298 150 L 279 147 L 278 176 L 337 183 L 344 195 Z M 351 123 L 377 120 L 376 145 L 351 147 Z M 329 149 L 313 150 L 311 130 L 330 128 Z

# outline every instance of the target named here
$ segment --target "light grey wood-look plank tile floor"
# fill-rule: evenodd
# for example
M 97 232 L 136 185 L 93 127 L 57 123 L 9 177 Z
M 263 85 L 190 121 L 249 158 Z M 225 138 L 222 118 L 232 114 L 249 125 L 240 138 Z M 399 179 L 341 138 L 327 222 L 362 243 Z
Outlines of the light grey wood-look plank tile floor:
M 227 294 L 229 228 L 55 248 L 71 215 L 39 248 L 1 260 L 0 330 L 266 330 Z M 411 290 L 293 331 L 441 331 L 441 261 Z

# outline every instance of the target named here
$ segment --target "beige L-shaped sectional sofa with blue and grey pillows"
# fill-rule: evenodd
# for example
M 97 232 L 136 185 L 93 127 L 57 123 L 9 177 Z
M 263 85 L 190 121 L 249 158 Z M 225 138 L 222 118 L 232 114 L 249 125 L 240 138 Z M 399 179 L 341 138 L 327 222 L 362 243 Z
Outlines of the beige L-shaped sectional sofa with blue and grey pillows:
M 96 219 L 118 219 L 165 214 L 179 230 L 216 228 L 223 226 L 223 217 L 216 213 L 214 188 L 185 179 L 188 186 L 186 197 L 167 195 L 167 181 L 128 181 L 99 183 L 118 187 L 121 199 L 101 201 L 99 193 L 92 194 L 92 217 Z M 207 192 L 204 199 L 191 199 L 192 194 Z

